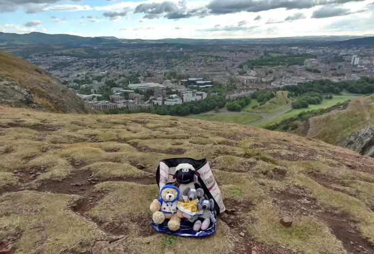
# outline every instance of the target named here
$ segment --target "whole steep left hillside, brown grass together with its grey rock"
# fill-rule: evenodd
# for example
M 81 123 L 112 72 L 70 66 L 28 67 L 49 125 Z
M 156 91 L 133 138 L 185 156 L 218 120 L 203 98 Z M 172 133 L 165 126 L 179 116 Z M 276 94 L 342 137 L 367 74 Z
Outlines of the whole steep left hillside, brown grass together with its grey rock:
M 60 113 L 90 112 L 81 98 L 51 74 L 3 52 L 0 52 L 0 105 Z

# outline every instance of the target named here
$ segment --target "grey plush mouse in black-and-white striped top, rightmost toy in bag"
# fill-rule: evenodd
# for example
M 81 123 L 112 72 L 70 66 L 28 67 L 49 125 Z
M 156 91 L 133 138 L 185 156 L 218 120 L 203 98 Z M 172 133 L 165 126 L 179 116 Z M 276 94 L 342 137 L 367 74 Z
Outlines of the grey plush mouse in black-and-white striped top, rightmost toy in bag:
M 193 230 L 199 231 L 201 229 L 204 231 L 209 227 L 210 222 L 214 223 L 217 221 L 212 212 L 212 210 L 214 210 L 214 200 L 208 200 L 205 199 L 205 197 L 202 197 L 199 200 L 198 208 L 199 211 L 200 209 L 203 209 L 204 211 L 198 216 L 195 224 L 193 224 Z

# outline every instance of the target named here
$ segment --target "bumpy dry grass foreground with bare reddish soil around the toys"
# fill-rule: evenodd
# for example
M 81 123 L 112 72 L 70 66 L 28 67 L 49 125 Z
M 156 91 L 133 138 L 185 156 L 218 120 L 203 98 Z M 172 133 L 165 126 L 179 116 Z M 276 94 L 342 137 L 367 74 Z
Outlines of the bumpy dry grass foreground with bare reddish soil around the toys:
M 213 236 L 151 228 L 155 170 L 170 157 L 208 159 L 235 209 L 219 216 Z M 373 158 L 288 133 L 0 107 L 0 251 L 93 254 L 101 244 L 104 254 L 374 254 L 373 190 Z

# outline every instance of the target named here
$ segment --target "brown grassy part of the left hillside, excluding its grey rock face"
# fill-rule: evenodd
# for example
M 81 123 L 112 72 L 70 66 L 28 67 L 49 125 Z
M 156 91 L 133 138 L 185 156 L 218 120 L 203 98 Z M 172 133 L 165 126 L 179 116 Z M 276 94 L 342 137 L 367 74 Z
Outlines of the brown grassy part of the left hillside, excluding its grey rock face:
M 17 56 L 0 52 L 0 78 L 19 82 L 20 87 L 30 90 L 35 102 L 45 110 L 63 113 L 87 113 L 90 110 L 56 78 Z

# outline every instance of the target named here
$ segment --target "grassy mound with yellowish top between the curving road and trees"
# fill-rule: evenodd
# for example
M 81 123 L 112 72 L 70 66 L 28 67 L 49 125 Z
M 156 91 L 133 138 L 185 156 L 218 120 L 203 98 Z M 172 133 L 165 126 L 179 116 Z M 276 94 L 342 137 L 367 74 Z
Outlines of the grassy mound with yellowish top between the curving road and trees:
M 287 108 L 289 105 L 291 105 L 291 100 L 287 97 L 288 91 L 278 91 L 277 97 L 274 99 L 271 99 L 266 104 L 259 106 L 256 109 L 252 109 L 252 106 L 248 107 L 246 106 L 243 110 L 248 112 L 255 112 L 255 113 L 276 113 L 282 109 Z

